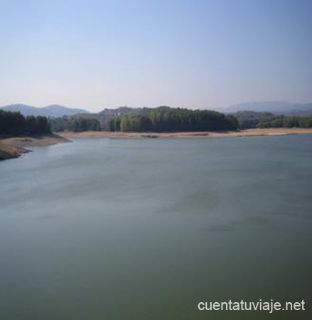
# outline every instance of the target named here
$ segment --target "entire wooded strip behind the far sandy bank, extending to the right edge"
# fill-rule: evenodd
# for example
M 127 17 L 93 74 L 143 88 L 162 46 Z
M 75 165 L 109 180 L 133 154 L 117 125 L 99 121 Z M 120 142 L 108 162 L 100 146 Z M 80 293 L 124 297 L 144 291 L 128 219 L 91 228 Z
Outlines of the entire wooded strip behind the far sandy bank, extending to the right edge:
M 226 131 L 262 127 L 312 127 L 312 117 L 285 117 L 270 112 L 243 111 L 222 114 L 210 110 L 184 108 L 119 108 L 98 114 L 63 116 L 49 119 L 51 128 L 60 131 L 111 132 L 195 132 Z

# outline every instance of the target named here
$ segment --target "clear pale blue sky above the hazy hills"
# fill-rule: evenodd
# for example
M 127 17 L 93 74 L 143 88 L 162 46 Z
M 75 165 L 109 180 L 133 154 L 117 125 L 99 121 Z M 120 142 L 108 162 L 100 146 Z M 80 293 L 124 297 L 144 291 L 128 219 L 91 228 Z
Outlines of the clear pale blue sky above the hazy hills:
M 0 0 L 0 106 L 312 102 L 310 0 Z

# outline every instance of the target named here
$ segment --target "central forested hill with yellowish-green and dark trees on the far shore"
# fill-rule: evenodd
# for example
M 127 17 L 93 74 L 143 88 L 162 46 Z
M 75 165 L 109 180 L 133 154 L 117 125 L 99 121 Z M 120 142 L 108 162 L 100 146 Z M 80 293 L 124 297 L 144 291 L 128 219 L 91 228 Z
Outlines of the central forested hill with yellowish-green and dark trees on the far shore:
M 82 119 L 87 120 L 82 126 Z M 91 121 L 92 120 L 92 121 Z M 99 114 L 51 119 L 53 131 L 106 130 L 122 132 L 185 132 L 237 129 L 237 119 L 209 110 L 182 108 L 121 107 L 103 110 Z

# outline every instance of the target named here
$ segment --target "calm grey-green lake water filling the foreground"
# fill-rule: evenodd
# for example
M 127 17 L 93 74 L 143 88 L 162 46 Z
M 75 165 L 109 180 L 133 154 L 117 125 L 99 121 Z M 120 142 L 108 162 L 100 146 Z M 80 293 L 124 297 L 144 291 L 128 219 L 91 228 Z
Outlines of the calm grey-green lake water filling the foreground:
M 0 186 L 0 319 L 312 319 L 312 136 L 74 139 Z

